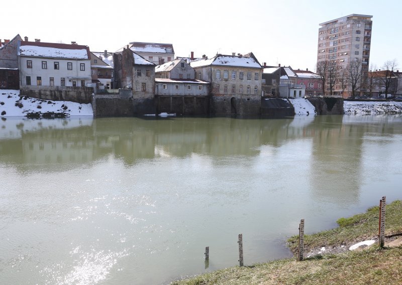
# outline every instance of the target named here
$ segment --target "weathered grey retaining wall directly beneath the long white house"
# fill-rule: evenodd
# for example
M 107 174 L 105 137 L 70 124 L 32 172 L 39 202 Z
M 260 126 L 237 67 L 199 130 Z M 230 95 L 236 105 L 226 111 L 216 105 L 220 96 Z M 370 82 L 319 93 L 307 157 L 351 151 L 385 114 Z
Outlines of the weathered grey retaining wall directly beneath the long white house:
M 91 103 L 93 89 L 90 87 L 20 86 L 20 95 L 54 101 Z

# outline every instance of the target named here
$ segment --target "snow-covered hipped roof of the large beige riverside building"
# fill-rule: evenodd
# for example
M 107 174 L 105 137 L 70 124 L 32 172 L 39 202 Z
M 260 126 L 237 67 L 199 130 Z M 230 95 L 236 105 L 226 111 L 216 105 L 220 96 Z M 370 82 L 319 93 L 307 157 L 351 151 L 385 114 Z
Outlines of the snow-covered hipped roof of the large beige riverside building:
M 252 55 L 252 53 L 250 54 Z M 202 59 L 190 62 L 190 66 L 193 68 L 208 65 L 261 68 L 261 65 L 253 55 L 250 57 L 246 57 L 217 54 L 211 59 Z

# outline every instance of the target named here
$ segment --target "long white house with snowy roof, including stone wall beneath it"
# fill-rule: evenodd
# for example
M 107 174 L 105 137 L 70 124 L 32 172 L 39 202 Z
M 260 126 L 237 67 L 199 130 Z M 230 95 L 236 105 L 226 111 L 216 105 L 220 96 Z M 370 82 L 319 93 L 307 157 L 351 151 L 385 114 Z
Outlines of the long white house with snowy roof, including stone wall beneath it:
M 93 92 L 87 46 L 18 42 L 20 94 L 49 100 L 90 102 Z

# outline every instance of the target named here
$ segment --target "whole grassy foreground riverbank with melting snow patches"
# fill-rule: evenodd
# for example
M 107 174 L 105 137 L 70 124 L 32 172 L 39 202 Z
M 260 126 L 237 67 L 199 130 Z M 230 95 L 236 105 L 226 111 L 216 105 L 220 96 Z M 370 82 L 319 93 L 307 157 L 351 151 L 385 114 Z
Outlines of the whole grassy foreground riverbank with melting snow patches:
M 388 240 L 402 233 L 402 201 L 386 206 L 385 235 Z M 305 252 L 321 249 L 304 261 L 295 257 L 243 267 L 230 267 L 192 278 L 174 281 L 181 284 L 396 284 L 402 279 L 402 247 L 372 246 L 366 250 L 349 251 L 348 245 L 375 239 L 378 232 L 378 207 L 350 218 L 340 218 L 339 227 L 305 235 Z M 288 245 L 296 252 L 297 237 Z M 327 248 L 345 248 L 334 254 Z M 322 250 L 325 247 L 325 250 Z

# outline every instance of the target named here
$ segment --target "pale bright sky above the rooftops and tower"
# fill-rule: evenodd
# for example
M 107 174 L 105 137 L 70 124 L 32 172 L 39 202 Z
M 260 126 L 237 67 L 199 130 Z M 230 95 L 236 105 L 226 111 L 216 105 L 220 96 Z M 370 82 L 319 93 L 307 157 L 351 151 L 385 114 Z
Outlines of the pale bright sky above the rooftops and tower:
M 95 52 L 129 42 L 170 43 L 175 56 L 253 52 L 261 64 L 315 71 L 319 24 L 363 14 L 373 16 L 370 65 L 396 59 L 402 69 L 401 11 L 400 0 L 20 0 L 2 3 L 0 39 L 75 41 Z

